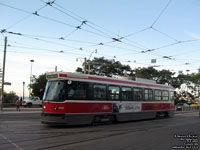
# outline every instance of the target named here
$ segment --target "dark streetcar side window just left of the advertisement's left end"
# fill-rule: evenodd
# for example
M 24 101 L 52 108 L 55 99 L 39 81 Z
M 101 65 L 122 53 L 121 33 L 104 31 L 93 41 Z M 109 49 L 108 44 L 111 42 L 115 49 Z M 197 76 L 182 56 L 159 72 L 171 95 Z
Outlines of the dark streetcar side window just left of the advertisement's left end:
M 94 99 L 106 100 L 106 85 L 94 84 Z

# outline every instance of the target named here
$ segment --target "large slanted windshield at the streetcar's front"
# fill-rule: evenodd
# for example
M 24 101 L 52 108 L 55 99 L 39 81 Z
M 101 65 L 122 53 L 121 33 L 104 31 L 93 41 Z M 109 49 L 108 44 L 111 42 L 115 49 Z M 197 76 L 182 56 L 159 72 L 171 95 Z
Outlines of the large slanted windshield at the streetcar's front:
M 48 81 L 46 84 L 43 100 L 64 101 L 64 81 Z

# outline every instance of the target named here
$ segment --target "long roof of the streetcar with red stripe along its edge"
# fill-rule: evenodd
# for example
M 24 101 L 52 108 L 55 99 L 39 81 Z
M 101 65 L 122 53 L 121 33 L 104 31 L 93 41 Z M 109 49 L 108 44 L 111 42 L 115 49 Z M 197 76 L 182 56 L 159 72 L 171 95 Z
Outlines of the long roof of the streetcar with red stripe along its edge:
M 71 72 L 49 72 L 47 73 L 46 78 L 47 80 L 72 80 L 72 81 L 95 82 L 104 84 L 132 85 L 138 87 L 173 89 L 172 86 L 157 84 L 153 80 L 138 79 L 134 81 L 130 79 L 117 79 L 112 77 L 71 73 Z

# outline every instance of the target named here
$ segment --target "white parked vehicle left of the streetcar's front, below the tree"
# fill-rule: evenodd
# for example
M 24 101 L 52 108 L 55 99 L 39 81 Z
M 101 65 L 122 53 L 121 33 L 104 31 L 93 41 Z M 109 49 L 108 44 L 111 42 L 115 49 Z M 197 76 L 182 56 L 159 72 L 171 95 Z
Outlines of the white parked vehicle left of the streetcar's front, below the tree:
M 42 106 L 42 100 L 39 97 L 29 97 L 22 101 L 22 106 L 32 107 L 32 106 Z

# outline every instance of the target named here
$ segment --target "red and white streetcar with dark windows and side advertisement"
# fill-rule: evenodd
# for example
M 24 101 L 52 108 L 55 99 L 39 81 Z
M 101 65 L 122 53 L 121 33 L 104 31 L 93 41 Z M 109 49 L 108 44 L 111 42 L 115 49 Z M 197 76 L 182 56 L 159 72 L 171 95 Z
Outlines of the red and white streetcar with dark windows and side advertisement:
M 81 125 L 174 114 L 174 89 L 150 80 L 51 72 L 47 74 L 41 122 Z

